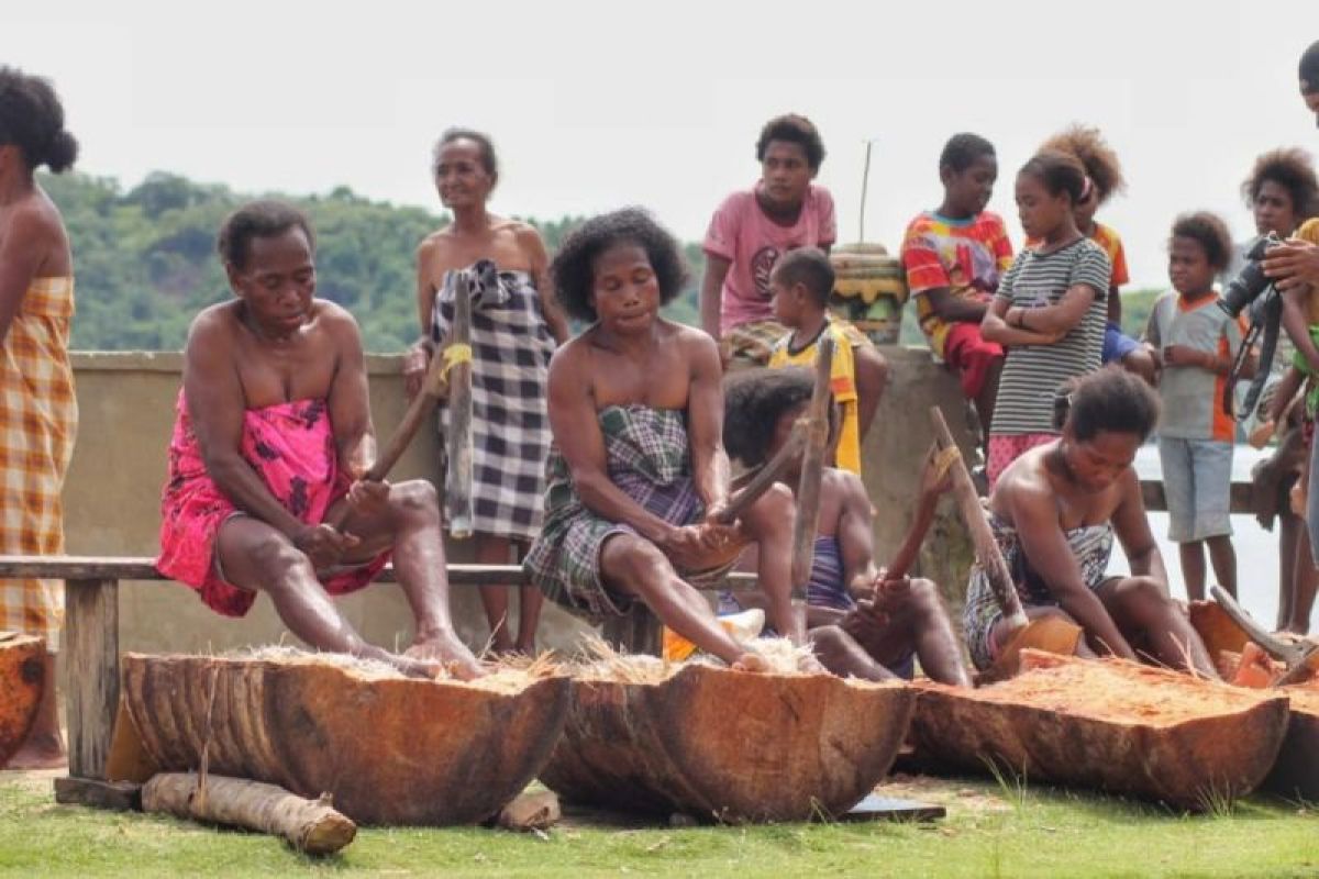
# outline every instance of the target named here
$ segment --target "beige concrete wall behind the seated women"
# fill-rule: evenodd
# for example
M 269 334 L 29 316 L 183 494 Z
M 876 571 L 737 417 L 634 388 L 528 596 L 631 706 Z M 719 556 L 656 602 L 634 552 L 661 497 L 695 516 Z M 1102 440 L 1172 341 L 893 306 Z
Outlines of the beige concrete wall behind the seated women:
M 892 366 L 889 390 L 865 443 L 865 482 L 877 510 L 878 557 L 890 555 L 910 519 L 910 498 L 930 444 L 931 403 L 943 406 L 948 423 L 966 423 L 956 382 L 938 369 L 925 349 L 885 348 Z M 384 439 L 402 418 L 401 358 L 368 357 L 376 431 Z M 182 357 L 177 353 L 75 353 L 80 424 L 65 490 L 67 550 L 74 555 L 154 555 L 166 445 L 174 419 Z M 394 477 L 437 477 L 434 430 L 423 431 L 398 464 Z M 960 593 L 967 543 L 960 526 L 944 515 L 935 523 L 935 551 L 922 571 Z M 927 543 L 927 546 L 930 546 Z M 450 546 L 454 561 L 470 559 L 470 544 Z M 487 627 L 476 590 L 454 588 L 454 617 L 460 635 L 484 643 Z M 376 585 L 342 600 L 351 622 L 371 640 L 406 646 L 410 613 L 394 585 Z M 125 584 L 120 590 L 124 650 L 198 651 L 291 639 L 270 602 L 232 621 L 210 611 L 177 584 Z M 568 647 L 580 633 L 575 619 L 546 605 L 542 647 Z

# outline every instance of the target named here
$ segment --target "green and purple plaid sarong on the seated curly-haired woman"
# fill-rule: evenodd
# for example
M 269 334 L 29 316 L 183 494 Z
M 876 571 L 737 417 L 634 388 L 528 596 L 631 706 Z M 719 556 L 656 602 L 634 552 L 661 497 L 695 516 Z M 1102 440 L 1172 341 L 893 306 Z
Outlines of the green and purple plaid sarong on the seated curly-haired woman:
M 686 412 L 649 406 L 605 406 L 599 412 L 609 480 L 628 497 L 670 525 L 694 525 L 704 515 L 691 480 Z M 572 613 L 599 623 L 624 614 L 633 597 L 609 589 L 600 579 L 600 548 L 632 526 L 603 519 L 582 503 L 572 474 L 558 449 L 546 465 L 545 526 L 522 563 L 532 582 Z M 678 571 L 687 582 L 721 580 L 721 568 Z

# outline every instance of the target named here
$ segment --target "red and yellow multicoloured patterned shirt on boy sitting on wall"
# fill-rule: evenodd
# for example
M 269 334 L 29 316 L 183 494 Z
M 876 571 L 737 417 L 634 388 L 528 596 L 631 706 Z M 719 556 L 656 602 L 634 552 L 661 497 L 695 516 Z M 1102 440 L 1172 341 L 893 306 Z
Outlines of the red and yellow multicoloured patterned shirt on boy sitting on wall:
M 943 356 L 951 324 L 934 312 L 925 294 L 944 289 L 959 299 L 988 303 L 1010 265 L 1012 242 L 997 213 L 952 220 L 926 211 L 911 220 L 902 239 L 902 268 L 934 353 Z

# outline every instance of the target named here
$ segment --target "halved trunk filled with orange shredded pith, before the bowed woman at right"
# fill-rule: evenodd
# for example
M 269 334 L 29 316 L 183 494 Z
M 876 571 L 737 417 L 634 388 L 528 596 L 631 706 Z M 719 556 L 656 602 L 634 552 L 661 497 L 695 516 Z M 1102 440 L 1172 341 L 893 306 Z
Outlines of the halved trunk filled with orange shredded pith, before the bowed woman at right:
M 1286 697 L 1117 659 L 1025 651 L 1024 672 L 977 691 L 923 684 L 911 738 L 926 766 L 1203 810 L 1264 781 Z

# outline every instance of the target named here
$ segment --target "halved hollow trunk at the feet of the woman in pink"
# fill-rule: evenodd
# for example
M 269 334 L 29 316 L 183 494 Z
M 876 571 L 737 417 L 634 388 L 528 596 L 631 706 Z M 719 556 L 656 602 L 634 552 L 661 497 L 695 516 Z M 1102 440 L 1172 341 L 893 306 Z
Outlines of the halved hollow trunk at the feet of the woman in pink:
M 547 664 L 470 683 L 270 648 L 123 658 L 123 697 L 150 758 L 332 797 L 359 824 L 484 821 L 536 778 L 568 681 Z

